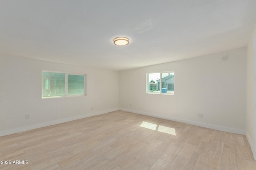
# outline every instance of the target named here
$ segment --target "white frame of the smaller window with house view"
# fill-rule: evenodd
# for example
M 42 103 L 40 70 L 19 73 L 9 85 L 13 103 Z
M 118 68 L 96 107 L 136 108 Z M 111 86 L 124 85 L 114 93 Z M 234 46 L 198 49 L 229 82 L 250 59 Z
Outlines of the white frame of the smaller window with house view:
M 159 78 L 159 93 L 155 93 L 155 92 L 149 92 L 149 89 L 148 89 L 148 83 L 149 83 L 149 74 L 154 74 L 154 73 L 159 73 L 160 74 L 160 78 Z M 175 72 L 174 70 L 172 71 L 162 71 L 162 72 L 147 72 L 146 73 L 146 94 L 163 94 L 163 95 L 174 95 L 174 91 L 171 93 L 171 92 L 168 92 L 168 93 L 162 93 L 162 74 L 163 73 L 174 73 L 174 79 L 175 79 Z M 175 81 L 174 81 L 175 82 Z M 173 86 L 175 83 L 173 83 Z

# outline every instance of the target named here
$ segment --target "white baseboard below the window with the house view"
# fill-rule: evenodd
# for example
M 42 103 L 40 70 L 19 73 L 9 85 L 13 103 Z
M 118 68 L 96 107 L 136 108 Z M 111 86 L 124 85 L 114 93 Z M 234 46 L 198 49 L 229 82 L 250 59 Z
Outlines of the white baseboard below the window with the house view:
M 131 110 L 131 109 L 125 109 L 125 108 L 120 108 L 120 110 L 132 112 L 132 113 L 137 113 L 137 114 L 141 114 L 141 115 L 157 117 L 157 118 L 161 118 L 161 119 L 167 119 L 167 120 L 171 120 L 171 121 L 177 121 L 177 122 L 181 122 L 181 123 L 187 123 L 187 124 L 190 124 L 190 125 L 196 125 L 196 126 L 200 126 L 200 127 L 206 127 L 206 128 L 210 128 L 210 129 L 219 130 L 219 131 L 225 131 L 225 132 L 245 135 L 245 131 L 240 130 L 240 129 L 233 129 L 233 128 L 230 128 L 230 127 L 223 127 L 223 126 L 218 126 L 218 125 L 211 125 L 211 124 L 207 124 L 207 123 L 190 121 L 190 120 L 186 120 L 186 119 L 179 119 L 179 118 L 165 116 L 165 115 L 156 115 L 156 114 L 153 114 L 153 113 L 146 113 L 144 111 L 137 111 L 137 110 Z

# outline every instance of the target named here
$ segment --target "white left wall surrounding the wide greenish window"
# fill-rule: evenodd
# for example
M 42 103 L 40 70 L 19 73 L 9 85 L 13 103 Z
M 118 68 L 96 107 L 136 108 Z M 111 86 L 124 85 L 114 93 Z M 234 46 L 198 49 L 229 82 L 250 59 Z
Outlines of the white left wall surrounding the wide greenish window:
M 42 99 L 42 70 L 87 74 L 88 95 Z M 118 110 L 118 74 L 113 70 L 0 57 L 0 136 Z M 25 119 L 25 114 L 30 114 L 30 119 Z

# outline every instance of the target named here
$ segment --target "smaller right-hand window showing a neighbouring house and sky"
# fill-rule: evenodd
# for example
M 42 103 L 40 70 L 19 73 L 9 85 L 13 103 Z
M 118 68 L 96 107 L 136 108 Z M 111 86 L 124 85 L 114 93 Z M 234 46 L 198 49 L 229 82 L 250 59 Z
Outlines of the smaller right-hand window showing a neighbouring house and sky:
M 147 73 L 146 93 L 174 94 L 174 71 Z

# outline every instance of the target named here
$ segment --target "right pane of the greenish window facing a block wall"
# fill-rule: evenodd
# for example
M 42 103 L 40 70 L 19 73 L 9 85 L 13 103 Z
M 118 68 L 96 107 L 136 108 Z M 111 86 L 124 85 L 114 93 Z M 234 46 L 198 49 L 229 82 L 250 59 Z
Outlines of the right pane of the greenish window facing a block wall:
M 84 76 L 68 74 L 68 95 L 84 94 Z

